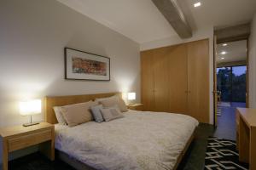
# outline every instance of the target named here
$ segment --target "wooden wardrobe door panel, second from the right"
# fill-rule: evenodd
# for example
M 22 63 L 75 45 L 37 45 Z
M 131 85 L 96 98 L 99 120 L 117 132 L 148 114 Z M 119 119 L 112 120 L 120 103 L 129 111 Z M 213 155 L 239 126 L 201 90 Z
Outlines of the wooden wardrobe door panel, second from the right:
M 181 44 L 169 52 L 169 111 L 188 112 L 188 57 L 187 45 Z

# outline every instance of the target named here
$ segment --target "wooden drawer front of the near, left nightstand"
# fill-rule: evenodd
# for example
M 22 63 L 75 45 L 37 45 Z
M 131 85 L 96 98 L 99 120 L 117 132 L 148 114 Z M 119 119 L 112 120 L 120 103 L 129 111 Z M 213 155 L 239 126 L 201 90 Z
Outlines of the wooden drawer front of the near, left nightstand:
M 22 135 L 8 140 L 9 151 L 19 150 L 27 146 L 39 144 L 52 139 L 52 130 L 45 129 L 37 133 Z

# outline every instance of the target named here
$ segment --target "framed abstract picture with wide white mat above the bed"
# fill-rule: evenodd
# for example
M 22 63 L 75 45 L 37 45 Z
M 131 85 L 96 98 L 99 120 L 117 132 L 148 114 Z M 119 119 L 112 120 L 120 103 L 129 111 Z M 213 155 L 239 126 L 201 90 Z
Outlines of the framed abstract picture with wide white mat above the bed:
M 73 48 L 65 48 L 65 78 L 110 81 L 110 59 Z

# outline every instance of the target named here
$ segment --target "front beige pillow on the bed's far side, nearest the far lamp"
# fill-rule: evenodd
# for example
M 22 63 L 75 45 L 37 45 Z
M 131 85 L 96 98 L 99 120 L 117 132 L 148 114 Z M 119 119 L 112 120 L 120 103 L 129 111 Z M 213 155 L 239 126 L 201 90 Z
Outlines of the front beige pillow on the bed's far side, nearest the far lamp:
M 125 101 L 119 98 L 117 95 L 105 99 L 96 99 L 96 101 L 102 104 L 103 107 L 113 107 L 114 105 L 118 105 L 120 111 L 128 111 L 127 106 L 125 105 Z

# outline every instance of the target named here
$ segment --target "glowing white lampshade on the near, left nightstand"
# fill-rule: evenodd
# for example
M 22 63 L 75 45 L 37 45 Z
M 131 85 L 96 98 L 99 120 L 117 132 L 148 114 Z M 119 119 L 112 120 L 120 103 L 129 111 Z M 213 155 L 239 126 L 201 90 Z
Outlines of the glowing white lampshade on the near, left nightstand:
M 20 102 L 20 115 L 36 115 L 41 113 L 41 99 Z

